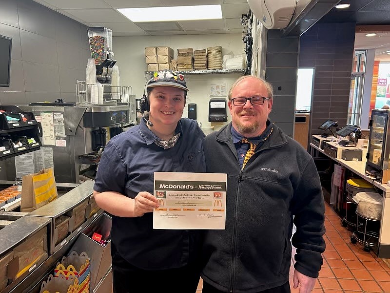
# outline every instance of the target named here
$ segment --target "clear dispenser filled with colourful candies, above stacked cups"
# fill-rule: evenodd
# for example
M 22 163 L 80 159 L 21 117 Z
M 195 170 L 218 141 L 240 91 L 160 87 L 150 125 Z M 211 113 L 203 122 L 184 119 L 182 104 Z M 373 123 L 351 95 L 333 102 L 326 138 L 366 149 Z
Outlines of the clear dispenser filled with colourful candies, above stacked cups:
M 88 28 L 91 57 L 95 59 L 96 77 L 101 84 L 111 84 L 113 66 L 112 30 L 99 26 Z

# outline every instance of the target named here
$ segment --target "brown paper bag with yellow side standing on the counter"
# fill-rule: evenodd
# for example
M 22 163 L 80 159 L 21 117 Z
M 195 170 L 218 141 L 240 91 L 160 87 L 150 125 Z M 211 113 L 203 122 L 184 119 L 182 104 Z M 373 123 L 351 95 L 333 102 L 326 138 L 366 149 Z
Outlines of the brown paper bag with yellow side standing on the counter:
M 30 212 L 38 209 L 58 196 L 53 168 L 23 176 L 20 211 Z

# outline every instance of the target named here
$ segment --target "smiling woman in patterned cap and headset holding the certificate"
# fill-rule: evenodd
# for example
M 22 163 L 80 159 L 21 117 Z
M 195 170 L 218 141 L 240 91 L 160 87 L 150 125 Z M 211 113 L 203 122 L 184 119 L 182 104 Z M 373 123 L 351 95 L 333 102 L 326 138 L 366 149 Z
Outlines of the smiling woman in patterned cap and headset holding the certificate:
M 156 72 L 146 89 L 149 117 L 108 142 L 94 186 L 98 206 L 112 214 L 114 292 L 195 292 L 199 231 L 153 230 L 153 181 L 156 171 L 205 172 L 204 134 L 181 118 L 188 92 L 181 74 Z

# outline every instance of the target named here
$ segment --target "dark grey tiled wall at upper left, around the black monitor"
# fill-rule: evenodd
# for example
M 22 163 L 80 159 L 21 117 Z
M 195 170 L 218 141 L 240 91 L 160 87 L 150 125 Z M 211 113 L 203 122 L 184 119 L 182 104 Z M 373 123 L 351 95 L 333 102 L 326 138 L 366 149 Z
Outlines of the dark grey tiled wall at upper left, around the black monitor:
M 85 80 L 91 58 L 85 25 L 32 0 L 0 0 L 0 34 L 12 38 L 10 87 L 0 87 L 2 105 L 75 101 L 76 79 Z

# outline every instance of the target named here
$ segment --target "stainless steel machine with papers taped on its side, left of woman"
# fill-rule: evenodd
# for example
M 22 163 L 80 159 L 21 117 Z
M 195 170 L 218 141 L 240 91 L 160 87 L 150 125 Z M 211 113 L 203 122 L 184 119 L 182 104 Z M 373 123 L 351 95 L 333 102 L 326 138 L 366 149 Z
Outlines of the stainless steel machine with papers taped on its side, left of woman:
M 32 103 L 19 107 L 33 112 L 42 125 L 41 148 L 50 150 L 44 156 L 53 156 L 56 182 L 79 183 L 79 176 L 88 170 L 85 176 L 93 179 L 106 143 L 130 126 L 129 105 L 120 104 Z

